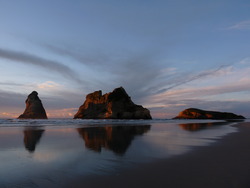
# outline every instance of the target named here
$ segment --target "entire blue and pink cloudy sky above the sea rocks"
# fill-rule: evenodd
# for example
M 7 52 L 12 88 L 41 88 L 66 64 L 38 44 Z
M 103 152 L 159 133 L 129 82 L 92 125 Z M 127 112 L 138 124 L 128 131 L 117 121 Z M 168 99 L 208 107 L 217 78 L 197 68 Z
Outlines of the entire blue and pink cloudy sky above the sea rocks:
M 124 87 L 153 118 L 250 118 L 249 0 L 0 0 L 0 118 L 37 91 L 49 118 Z

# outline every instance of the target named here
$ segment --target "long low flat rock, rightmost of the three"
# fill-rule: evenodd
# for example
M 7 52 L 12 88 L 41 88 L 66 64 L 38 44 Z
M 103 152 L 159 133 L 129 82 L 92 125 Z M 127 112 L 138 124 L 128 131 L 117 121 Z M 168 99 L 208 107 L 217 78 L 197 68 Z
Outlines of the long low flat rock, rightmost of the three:
M 241 115 L 229 112 L 205 111 L 197 108 L 188 108 L 179 113 L 174 119 L 245 119 Z

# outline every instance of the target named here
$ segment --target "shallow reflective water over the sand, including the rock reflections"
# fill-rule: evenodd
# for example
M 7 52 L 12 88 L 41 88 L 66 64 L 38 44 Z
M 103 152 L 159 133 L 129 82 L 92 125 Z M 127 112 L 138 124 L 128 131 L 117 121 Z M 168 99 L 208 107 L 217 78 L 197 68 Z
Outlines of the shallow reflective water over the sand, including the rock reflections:
M 184 154 L 236 132 L 195 120 L 0 120 L 0 187 L 60 187 Z

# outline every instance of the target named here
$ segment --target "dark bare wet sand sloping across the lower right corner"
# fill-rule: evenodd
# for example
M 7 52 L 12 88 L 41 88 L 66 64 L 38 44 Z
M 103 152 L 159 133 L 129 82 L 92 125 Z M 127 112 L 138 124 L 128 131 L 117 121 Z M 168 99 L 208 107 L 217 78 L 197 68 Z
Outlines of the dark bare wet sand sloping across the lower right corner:
M 77 179 L 65 187 L 86 188 L 249 188 L 250 123 L 239 123 L 231 133 L 210 146 L 116 175 Z

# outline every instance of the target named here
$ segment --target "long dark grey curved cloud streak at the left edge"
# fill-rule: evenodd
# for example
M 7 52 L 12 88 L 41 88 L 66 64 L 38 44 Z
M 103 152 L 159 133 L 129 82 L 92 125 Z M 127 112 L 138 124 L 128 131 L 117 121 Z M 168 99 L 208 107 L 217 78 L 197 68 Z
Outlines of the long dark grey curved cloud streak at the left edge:
M 68 66 L 63 65 L 57 61 L 48 60 L 36 55 L 28 54 L 25 52 L 18 52 L 13 50 L 6 50 L 0 48 L 0 58 L 14 61 L 15 63 L 29 64 L 39 66 L 48 71 L 57 72 L 63 77 L 72 79 L 78 83 L 82 83 L 75 71 L 70 69 Z

